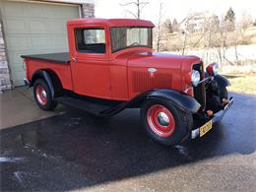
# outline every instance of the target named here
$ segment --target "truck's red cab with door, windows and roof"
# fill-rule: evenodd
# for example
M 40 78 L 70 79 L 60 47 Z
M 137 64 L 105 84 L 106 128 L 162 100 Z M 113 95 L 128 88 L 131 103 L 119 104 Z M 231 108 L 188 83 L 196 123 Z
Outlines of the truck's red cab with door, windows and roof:
M 67 26 L 73 91 L 117 100 L 134 96 L 129 89 L 129 57 L 152 52 L 154 25 L 136 20 L 79 19 Z

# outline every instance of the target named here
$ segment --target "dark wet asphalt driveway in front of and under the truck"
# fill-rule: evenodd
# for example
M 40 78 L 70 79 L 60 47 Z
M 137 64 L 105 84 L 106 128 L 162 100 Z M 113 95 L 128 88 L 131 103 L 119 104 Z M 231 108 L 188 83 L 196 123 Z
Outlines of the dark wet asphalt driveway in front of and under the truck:
M 223 121 L 174 148 L 149 140 L 139 111 L 82 111 L 0 132 L 1 190 L 255 191 L 256 96 L 235 95 Z

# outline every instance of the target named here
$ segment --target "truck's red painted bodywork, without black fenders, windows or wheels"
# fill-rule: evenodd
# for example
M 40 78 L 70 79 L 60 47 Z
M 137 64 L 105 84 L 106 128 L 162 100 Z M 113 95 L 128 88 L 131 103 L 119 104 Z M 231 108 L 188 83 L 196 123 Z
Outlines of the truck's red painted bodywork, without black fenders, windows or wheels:
M 154 53 L 150 47 L 126 48 L 111 52 L 110 28 L 154 28 L 142 20 L 78 19 L 67 24 L 70 63 L 59 64 L 36 59 L 25 59 L 27 78 L 36 70 L 48 69 L 59 78 L 62 87 L 82 96 L 114 100 L 130 100 L 143 92 L 167 88 L 185 92 L 191 85 L 192 65 L 201 62 L 196 56 Z M 76 50 L 75 29 L 104 29 L 106 52 L 81 53 Z M 157 69 L 150 73 L 149 69 Z M 193 93 L 187 93 L 193 95 Z

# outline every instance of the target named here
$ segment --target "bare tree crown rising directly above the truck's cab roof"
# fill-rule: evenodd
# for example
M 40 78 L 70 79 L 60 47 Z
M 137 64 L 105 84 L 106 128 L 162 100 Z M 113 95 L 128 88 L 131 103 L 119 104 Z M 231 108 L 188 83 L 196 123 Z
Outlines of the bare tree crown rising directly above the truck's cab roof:
M 121 4 L 123 7 L 136 7 L 136 11 L 130 11 L 129 9 L 125 9 L 125 11 L 131 15 L 133 15 L 137 20 L 141 19 L 142 10 L 149 4 L 149 1 L 145 0 L 134 0 L 129 1 L 127 3 Z

